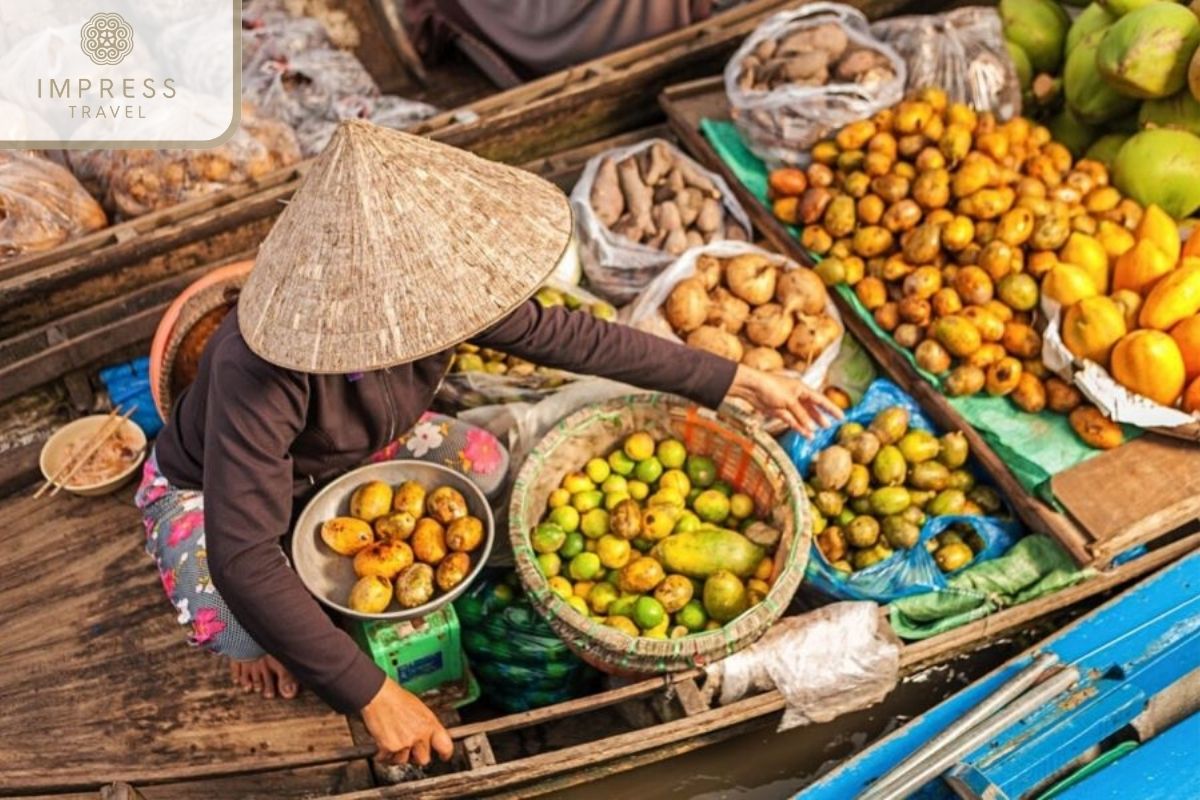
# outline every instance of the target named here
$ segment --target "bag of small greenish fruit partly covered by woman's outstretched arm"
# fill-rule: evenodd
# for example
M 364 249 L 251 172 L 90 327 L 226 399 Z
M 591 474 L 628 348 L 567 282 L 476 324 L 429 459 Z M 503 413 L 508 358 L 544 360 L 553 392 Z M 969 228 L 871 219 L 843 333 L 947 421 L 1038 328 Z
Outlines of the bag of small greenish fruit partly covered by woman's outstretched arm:
M 592 293 L 556 278 L 534 295 L 542 306 L 565 306 L 601 319 L 616 319 L 617 311 Z M 499 350 L 460 344 L 438 399 L 454 410 L 504 403 L 536 403 L 553 395 L 577 377 L 562 369 L 541 367 Z

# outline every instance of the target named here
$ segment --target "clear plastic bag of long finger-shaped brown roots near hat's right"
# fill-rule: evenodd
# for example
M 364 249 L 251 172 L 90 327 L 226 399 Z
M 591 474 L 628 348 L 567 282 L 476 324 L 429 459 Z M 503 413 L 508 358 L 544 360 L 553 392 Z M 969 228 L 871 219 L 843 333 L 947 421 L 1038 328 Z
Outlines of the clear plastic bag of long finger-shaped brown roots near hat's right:
M 662 139 L 593 157 L 571 206 L 588 285 L 618 306 L 689 247 L 750 239 L 728 185 Z

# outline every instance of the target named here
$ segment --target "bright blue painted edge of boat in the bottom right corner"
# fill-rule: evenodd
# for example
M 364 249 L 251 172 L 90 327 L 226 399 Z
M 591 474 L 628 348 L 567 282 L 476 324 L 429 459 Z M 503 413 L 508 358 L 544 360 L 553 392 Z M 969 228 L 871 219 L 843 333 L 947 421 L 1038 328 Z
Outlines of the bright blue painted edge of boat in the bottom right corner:
M 1129 654 L 1121 658 L 1126 662 L 1138 655 L 1138 644 L 1142 644 L 1147 637 L 1153 637 L 1153 621 L 1181 604 L 1195 604 L 1200 608 L 1200 553 L 1193 553 L 1163 569 L 1086 616 L 1075 620 L 916 717 L 796 796 L 803 800 L 854 798 L 870 782 L 884 775 L 983 698 L 1016 676 L 1038 654 L 1055 652 L 1063 663 L 1078 662 L 1081 667 L 1088 668 L 1103 660 L 1111 660 L 1115 650 L 1128 649 Z M 1114 638 L 1114 631 L 1122 633 Z M 1133 636 L 1135 633 L 1141 636 Z

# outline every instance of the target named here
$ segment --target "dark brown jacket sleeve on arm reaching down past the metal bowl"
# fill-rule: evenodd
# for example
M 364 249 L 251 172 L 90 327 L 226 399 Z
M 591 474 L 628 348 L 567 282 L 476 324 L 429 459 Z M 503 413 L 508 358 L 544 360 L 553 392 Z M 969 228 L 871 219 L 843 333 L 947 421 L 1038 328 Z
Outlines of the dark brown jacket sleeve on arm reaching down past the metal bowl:
M 288 450 L 306 408 L 302 375 L 248 349 L 222 347 L 215 354 L 204 432 L 209 572 L 254 640 L 349 714 L 374 697 L 383 672 L 320 609 L 280 547 L 292 517 Z

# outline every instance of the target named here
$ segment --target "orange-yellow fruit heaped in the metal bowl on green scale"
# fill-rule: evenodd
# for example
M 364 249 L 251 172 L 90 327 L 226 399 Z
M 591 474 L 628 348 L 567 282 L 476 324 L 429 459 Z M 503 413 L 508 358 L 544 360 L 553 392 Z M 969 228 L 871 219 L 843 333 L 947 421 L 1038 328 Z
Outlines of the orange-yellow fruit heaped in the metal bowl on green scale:
M 364 483 L 350 495 L 350 516 L 320 527 L 330 549 L 354 558 L 359 579 L 347 602 L 364 614 L 388 610 L 392 599 L 400 608 L 416 608 L 436 589 L 450 591 L 470 573 L 470 553 L 485 535 L 458 489 L 426 492 L 416 481 L 395 491 L 383 481 Z

